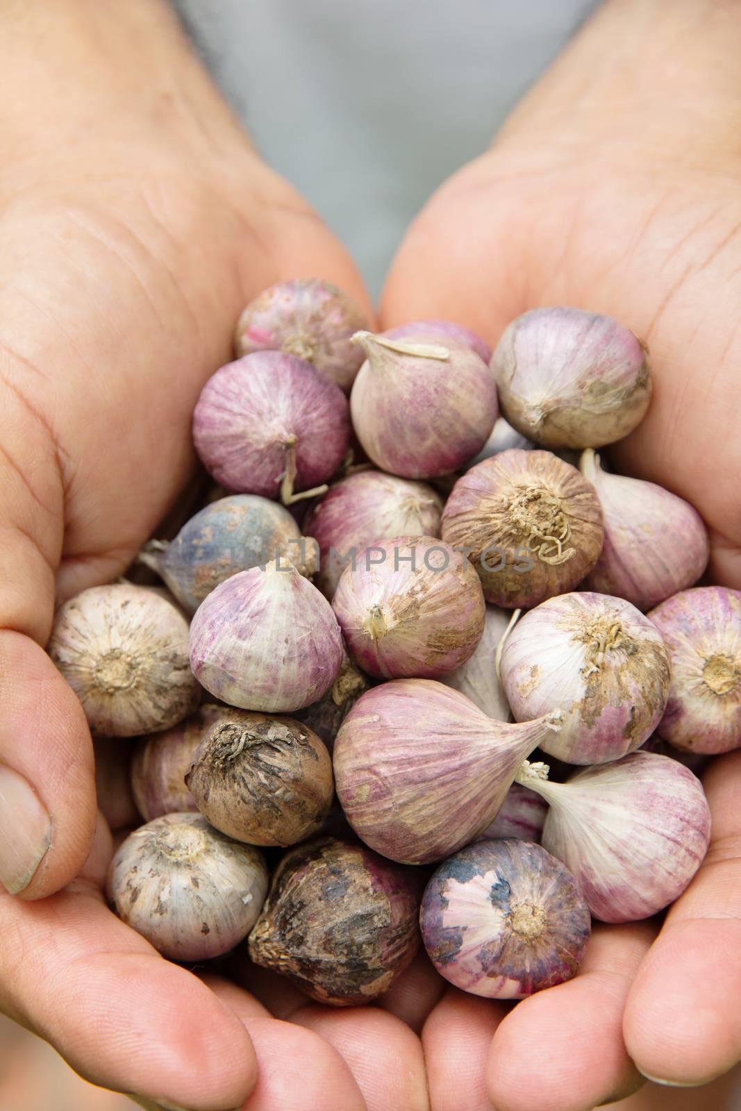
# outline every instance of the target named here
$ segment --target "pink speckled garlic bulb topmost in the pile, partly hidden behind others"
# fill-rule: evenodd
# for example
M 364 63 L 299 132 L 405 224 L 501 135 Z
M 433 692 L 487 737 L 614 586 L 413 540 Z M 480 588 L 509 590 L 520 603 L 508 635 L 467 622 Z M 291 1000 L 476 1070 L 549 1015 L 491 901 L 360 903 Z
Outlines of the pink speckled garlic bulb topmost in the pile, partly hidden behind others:
M 296 278 L 256 297 L 237 323 L 237 354 L 274 350 L 312 363 L 346 393 L 363 361 L 352 336 L 368 327 L 354 301 L 328 281 Z

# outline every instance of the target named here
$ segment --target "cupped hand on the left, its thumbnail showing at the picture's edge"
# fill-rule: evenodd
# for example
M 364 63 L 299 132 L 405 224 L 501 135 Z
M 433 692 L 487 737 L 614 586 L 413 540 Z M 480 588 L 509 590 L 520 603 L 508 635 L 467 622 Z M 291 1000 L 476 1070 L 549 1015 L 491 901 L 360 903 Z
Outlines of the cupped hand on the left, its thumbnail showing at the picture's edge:
M 90 734 L 43 652 L 54 599 L 121 573 L 187 487 L 192 409 L 243 304 L 302 274 L 366 294 L 166 6 L 11 7 L 1 49 L 24 114 L 0 127 L 0 1007 L 144 1101 L 423 1111 L 419 1040 L 399 1019 L 379 1011 L 367 1037 L 353 1014 L 319 1032 L 274 1020 L 107 909 Z M 117 745 L 123 759 L 124 741 L 99 742 L 103 803 Z

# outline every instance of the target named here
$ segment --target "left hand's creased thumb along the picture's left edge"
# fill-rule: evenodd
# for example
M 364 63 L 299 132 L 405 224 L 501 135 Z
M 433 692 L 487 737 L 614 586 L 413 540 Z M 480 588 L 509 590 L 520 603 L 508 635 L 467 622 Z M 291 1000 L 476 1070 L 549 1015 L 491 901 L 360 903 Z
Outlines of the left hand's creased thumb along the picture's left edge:
M 92 843 L 92 745 L 42 648 L 63 531 L 57 453 L 3 361 L 0 413 L 0 882 L 40 898 L 77 874 Z

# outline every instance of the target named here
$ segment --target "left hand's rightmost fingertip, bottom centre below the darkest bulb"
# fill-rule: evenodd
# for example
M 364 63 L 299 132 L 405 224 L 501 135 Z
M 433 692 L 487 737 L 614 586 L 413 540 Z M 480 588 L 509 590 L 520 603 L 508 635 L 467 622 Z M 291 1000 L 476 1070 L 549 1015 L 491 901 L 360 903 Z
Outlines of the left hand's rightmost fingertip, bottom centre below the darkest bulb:
M 292 1022 L 313 1030 L 347 1062 L 368 1111 L 429 1111 L 422 1045 L 393 1014 L 377 1007 L 300 1008 Z

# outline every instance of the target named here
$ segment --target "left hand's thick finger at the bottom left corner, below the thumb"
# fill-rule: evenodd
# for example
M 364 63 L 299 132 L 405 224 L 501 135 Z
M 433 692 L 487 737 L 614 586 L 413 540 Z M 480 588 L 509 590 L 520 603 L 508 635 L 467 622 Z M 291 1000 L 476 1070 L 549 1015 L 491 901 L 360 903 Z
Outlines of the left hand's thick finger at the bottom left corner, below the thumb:
M 236 1108 L 257 1080 L 241 1021 L 103 905 L 100 892 L 0 900 L 0 1010 L 87 1080 L 191 1111 Z

